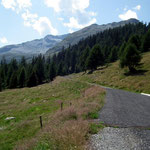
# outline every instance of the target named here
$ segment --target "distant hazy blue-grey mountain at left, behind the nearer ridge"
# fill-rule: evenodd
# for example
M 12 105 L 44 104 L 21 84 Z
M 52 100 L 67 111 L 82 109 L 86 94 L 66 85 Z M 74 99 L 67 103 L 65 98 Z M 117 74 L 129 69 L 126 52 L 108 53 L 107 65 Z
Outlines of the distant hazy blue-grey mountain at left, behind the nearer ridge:
M 6 60 L 11 60 L 12 58 L 19 60 L 22 56 L 29 59 L 38 54 L 45 54 L 49 48 L 61 42 L 67 35 L 47 35 L 41 39 L 3 46 L 0 48 L 0 59 L 3 56 L 5 56 Z

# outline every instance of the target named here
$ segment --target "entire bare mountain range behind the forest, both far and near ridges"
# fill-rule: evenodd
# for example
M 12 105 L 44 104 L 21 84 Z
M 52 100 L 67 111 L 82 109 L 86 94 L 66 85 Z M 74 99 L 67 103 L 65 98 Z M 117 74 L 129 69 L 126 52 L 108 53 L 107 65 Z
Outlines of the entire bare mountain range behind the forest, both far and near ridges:
M 124 26 L 129 23 L 136 24 L 139 23 L 139 21 L 136 19 L 129 19 L 104 25 L 93 24 L 72 34 L 60 36 L 47 35 L 42 39 L 36 39 L 17 45 L 4 46 L 0 48 L 0 60 L 3 56 L 9 61 L 12 58 L 19 60 L 22 56 L 31 59 L 33 56 L 37 56 L 40 53 L 45 54 L 46 56 L 52 55 L 61 51 L 63 48 L 69 47 L 69 45 L 77 44 L 80 40 L 85 39 L 88 36 L 103 32 L 107 29 Z

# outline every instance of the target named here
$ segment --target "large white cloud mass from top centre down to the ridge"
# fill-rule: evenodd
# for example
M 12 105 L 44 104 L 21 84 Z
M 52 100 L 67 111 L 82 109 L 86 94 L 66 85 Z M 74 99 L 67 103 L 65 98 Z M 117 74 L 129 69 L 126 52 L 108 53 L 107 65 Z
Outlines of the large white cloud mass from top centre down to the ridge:
M 90 0 L 44 0 L 47 7 L 53 8 L 56 13 L 68 17 L 69 22 L 63 23 L 69 28 L 69 32 L 73 29 L 81 29 L 96 22 L 94 18 L 97 13 L 87 11 L 90 6 Z M 61 18 L 59 20 L 63 21 Z

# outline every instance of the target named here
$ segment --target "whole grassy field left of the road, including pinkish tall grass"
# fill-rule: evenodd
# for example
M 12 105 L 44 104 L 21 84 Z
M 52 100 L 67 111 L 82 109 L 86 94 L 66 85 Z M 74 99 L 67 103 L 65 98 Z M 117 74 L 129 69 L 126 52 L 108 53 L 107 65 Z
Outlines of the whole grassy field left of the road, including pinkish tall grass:
M 90 131 L 88 119 L 95 118 L 104 95 L 100 87 L 61 77 L 34 88 L 1 92 L 0 150 L 83 149 Z

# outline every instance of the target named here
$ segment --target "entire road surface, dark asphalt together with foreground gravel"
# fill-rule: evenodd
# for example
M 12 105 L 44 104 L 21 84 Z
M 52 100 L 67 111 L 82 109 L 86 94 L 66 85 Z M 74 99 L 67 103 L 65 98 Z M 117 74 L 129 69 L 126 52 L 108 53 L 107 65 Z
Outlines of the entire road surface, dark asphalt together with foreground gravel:
M 106 91 L 99 121 L 119 128 L 106 127 L 93 135 L 88 150 L 150 150 L 150 97 L 110 88 Z

